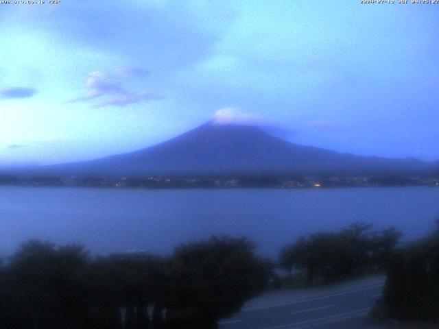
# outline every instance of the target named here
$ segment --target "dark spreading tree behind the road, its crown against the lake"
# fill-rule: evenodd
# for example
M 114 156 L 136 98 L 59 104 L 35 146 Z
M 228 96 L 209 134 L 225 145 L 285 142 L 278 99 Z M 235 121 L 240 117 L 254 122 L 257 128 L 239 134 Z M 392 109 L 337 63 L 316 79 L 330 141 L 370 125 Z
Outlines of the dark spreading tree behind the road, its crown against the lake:
M 358 222 L 340 232 L 302 236 L 281 250 L 285 269 L 304 270 L 308 284 L 327 283 L 385 268 L 401 234 L 394 228 L 373 232 Z

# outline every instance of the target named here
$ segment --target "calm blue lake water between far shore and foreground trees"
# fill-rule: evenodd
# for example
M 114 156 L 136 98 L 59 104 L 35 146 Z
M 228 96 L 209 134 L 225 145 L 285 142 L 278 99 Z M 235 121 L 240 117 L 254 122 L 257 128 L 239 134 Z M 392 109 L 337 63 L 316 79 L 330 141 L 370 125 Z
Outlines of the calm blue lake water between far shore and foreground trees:
M 211 234 L 248 236 L 276 256 L 301 234 L 354 221 L 403 239 L 435 227 L 439 188 L 130 190 L 0 186 L 0 254 L 27 239 L 82 243 L 93 253 L 167 254 Z

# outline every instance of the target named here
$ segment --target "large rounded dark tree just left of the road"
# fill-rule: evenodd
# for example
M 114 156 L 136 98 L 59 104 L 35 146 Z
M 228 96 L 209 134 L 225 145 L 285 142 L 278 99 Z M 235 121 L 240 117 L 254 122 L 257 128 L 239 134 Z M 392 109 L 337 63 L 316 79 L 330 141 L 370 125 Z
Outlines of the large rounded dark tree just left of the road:
M 167 328 L 217 328 L 266 287 L 270 269 L 246 239 L 216 238 L 177 247 L 169 264 Z

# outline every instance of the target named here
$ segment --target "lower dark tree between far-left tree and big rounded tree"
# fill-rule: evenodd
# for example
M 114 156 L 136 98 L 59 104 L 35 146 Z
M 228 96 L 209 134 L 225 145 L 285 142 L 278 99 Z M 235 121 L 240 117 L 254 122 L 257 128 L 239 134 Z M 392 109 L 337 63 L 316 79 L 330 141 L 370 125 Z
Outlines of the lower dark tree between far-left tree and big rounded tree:
M 161 298 L 163 260 L 145 253 L 96 258 L 91 265 L 95 309 L 103 328 L 151 328 L 147 306 Z M 102 326 L 102 325 L 101 325 Z

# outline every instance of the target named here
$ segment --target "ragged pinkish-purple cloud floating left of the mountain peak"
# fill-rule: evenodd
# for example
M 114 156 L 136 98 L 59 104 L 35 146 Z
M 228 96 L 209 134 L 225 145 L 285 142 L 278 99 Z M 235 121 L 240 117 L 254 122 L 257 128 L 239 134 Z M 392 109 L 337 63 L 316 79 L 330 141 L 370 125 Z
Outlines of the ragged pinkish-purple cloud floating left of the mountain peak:
M 129 91 L 123 88 L 123 83 L 129 82 L 134 77 L 145 77 L 150 72 L 140 67 L 121 67 L 115 75 L 108 75 L 99 71 L 88 75 L 85 88 L 88 90 L 85 96 L 71 99 L 69 103 L 76 101 L 91 101 L 98 97 L 104 98 L 92 105 L 93 108 L 104 106 L 127 106 L 141 101 L 163 99 L 147 90 Z

